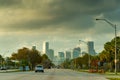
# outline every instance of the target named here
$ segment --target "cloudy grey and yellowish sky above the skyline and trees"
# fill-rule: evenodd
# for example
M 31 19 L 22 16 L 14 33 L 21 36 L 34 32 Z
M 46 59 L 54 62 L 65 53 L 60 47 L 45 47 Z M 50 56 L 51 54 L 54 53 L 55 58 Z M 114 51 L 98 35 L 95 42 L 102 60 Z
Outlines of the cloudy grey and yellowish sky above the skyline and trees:
M 59 51 L 94 41 L 97 53 L 111 41 L 117 25 L 120 35 L 120 0 L 0 0 L 0 54 L 10 56 L 23 47 L 42 51 L 44 41 Z

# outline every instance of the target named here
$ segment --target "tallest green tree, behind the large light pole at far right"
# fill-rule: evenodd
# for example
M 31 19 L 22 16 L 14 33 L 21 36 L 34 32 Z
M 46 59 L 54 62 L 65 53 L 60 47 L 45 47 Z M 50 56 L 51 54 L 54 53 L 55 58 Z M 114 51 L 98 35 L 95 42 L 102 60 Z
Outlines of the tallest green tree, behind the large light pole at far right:
M 120 46 L 120 37 L 116 37 L 116 43 L 117 43 L 117 59 L 119 59 L 118 56 L 120 56 L 119 53 L 119 46 Z M 104 50 L 99 54 L 100 60 L 103 62 L 107 62 L 110 64 L 111 69 L 114 68 L 114 60 L 115 60 L 115 38 L 112 39 L 110 42 L 106 42 L 104 44 Z

